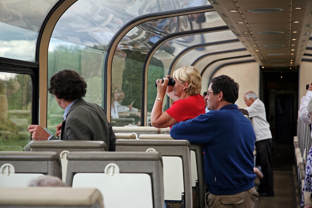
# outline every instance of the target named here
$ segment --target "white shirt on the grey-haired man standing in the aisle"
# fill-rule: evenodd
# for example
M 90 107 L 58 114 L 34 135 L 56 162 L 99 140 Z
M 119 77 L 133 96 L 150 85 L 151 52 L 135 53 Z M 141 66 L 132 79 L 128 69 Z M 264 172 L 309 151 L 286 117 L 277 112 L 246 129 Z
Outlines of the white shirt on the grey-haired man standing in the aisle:
M 266 121 L 266 108 L 264 107 L 264 103 L 257 98 L 246 110 L 249 113 L 251 124 L 255 130 L 256 142 L 272 138 L 270 124 Z

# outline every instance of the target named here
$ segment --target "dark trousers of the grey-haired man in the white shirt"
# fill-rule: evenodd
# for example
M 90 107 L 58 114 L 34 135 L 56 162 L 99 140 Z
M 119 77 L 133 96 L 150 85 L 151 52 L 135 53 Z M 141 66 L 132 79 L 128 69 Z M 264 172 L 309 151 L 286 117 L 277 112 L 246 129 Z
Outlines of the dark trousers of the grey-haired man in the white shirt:
M 255 145 L 257 150 L 256 165 L 261 166 L 264 174 L 264 180 L 260 184 L 258 192 L 273 193 L 272 138 L 260 140 Z

